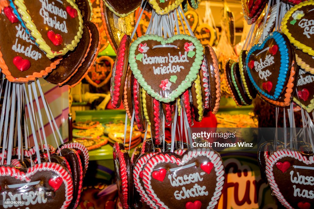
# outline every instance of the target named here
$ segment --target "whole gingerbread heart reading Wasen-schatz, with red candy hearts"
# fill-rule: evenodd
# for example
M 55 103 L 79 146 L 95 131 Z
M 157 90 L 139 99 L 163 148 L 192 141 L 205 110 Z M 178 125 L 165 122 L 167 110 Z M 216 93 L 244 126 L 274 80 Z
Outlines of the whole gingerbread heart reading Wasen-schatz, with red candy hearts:
M 190 149 L 183 155 L 156 153 L 144 167 L 143 184 L 160 208 L 213 209 L 224 174 L 219 154 L 210 149 Z M 168 190 L 162 189 L 166 186 Z

